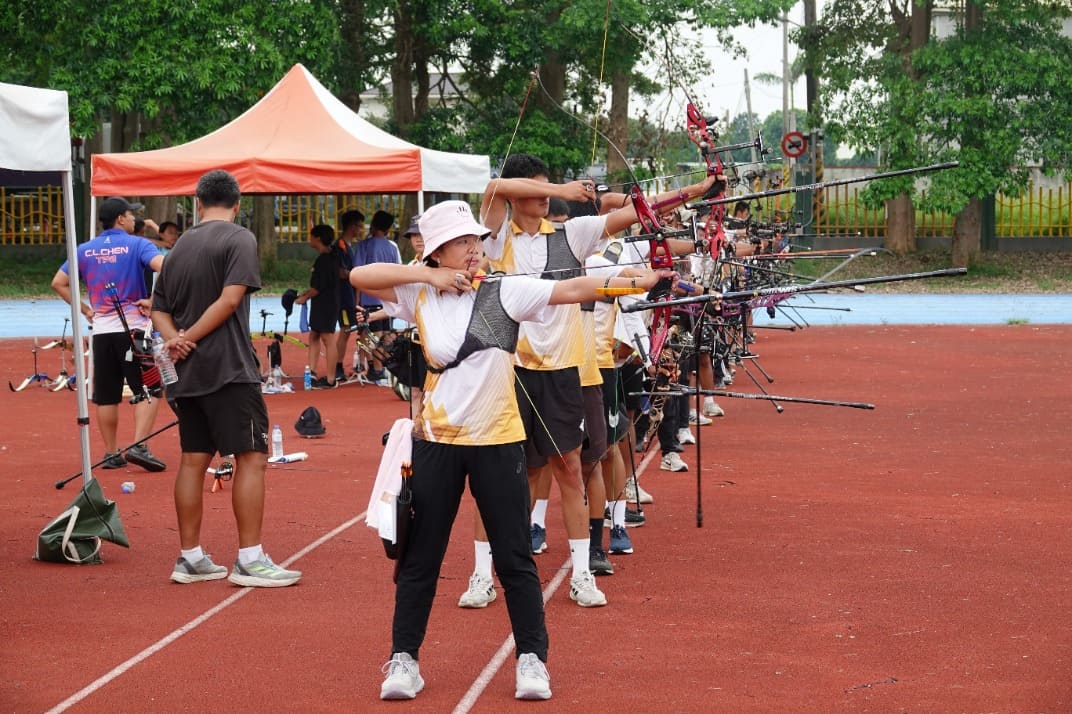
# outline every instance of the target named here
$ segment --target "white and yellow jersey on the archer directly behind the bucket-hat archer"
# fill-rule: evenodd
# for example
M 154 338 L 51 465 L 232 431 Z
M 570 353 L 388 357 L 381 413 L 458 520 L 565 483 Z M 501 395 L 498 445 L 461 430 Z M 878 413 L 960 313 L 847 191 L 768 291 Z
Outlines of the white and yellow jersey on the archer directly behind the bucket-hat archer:
M 566 221 L 566 242 L 578 259 L 598 250 L 606 217 L 586 215 Z M 550 221 L 542 221 L 536 235 L 524 233 L 512 221 L 503 223 L 498 235 L 483 241 L 485 254 L 494 270 L 506 273 L 540 276 L 548 269 L 548 236 L 555 232 Z M 530 370 L 560 370 L 580 367 L 584 362 L 584 334 L 581 328 L 580 307 L 562 304 L 553 308 L 552 317 L 546 323 L 526 323 L 521 326 L 516 363 Z

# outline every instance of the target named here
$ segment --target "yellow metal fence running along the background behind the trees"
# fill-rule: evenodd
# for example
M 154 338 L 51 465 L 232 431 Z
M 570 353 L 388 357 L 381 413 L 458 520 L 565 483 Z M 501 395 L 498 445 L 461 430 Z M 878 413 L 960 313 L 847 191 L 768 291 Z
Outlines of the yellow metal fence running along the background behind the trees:
M 820 235 L 880 238 L 885 235 L 883 209 L 864 206 L 860 187 L 838 185 L 824 190 L 825 212 L 808 233 Z M 780 197 L 779 197 L 780 198 Z M 786 205 L 783 206 L 781 203 Z M 788 208 L 779 202 L 778 208 Z M 392 195 L 286 195 L 274 202 L 276 233 L 281 243 L 302 243 L 309 228 L 317 223 L 338 226 L 339 215 L 349 209 L 364 213 L 366 221 L 377 210 L 396 217 L 396 227 L 403 230 L 408 217 L 405 196 Z M 1062 187 L 1032 187 L 1023 195 L 997 196 L 996 233 L 999 237 L 1072 236 L 1072 182 Z M 240 221 L 252 218 L 252 200 L 243 198 Z M 917 211 L 919 236 L 951 236 L 950 213 Z M 64 240 L 63 200 L 59 187 L 9 191 L 0 187 L 0 247 L 60 246 Z

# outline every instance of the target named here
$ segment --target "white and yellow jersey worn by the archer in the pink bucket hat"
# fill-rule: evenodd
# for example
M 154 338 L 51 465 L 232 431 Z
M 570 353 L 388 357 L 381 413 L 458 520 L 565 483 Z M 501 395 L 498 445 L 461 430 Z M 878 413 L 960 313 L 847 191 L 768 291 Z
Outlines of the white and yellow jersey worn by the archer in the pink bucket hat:
M 479 283 L 478 283 L 479 285 Z M 512 321 L 546 321 L 554 283 L 511 277 L 502 281 L 500 301 Z M 417 324 L 425 359 L 431 367 L 449 365 L 459 354 L 474 314 L 477 291 L 441 294 L 425 283 L 394 288 L 396 302 L 384 302 L 392 317 Z M 509 345 L 504 345 L 508 348 Z M 474 352 L 456 367 L 428 373 L 414 437 L 441 444 L 481 446 L 525 441 L 513 387 L 513 357 L 502 348 Z

